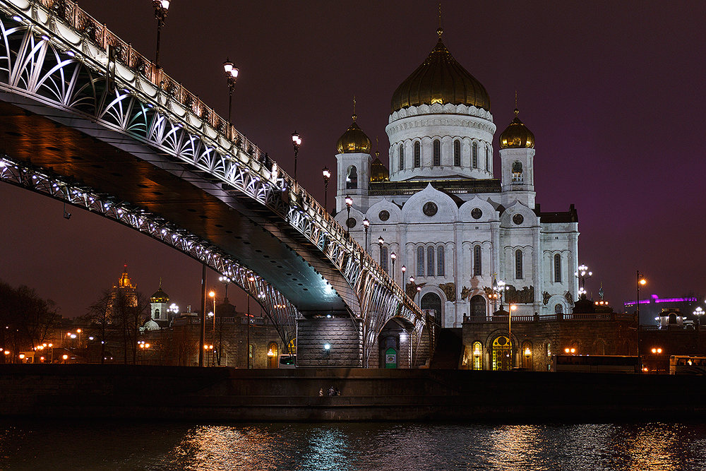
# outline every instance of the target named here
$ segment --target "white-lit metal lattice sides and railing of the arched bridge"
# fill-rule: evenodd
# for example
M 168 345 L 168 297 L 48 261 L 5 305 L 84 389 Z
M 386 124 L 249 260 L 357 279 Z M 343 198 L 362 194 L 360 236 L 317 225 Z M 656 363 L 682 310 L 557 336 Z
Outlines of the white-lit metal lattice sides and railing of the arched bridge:
M 364 365 L 377 335 L 394 317 L 414 326 L 414 362 L 425 327 L 433 352 L 433 323 L 419 307 L 309 193 L 196 95 L 71 1 L 0 0 L 0 11 L 1 95 L 32 112 L 52 109 L 52 119 L 67 126 L 78 118 L 126 136 L 198 177 L 203 191 L 249 198 L 267 208 L 268 217 L 286 222 L 345 279 L 335 290 L 360 321 Z M 100 189 L 12 155 L 1 162 L 2 181 L 119 221 L 234 278 L 261 301 L 282 339 L 291 338 L 287 332 L 301 313 L 265 281 L 266 273 L 253 273 L 208 240 Z

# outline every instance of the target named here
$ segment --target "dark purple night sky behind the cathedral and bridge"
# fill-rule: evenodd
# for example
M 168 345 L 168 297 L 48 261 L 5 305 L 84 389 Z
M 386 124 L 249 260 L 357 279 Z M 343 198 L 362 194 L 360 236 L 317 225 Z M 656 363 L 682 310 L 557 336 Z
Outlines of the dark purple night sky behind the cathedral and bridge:
M 154 55 L 151 1 L 80 6 Z M 589 293 L 602 281 L 619 309 L 635 296 L 639 268 L 645 297 L 702 294 L 706 3 L 447 0 L 443 10 L 446 47 L 490 94 L 497 168 L 517 90 L 537 140 L 537 202 L 543 211 L 576 205 Z M 300 181 L 323 200 L 321 168 L 335 170 L 353 95 L 358 124 L 380 139 L 387 163 L 390 97 L 436 44 L 437 26 L 433 1 L 173 0 L 160 59 L 226 116 L 229 56 L 240 68 L 235 126 L 290 174 L 299 131 Z M 8 184 L 0 201 L 0 279 L 35 287 L 64 316 L 85 314 L 123 263 L 145 294 L 162 277 L 182 309 L 198 304 L 191 258 L 82 210 L 64 220 L 61 203 Z

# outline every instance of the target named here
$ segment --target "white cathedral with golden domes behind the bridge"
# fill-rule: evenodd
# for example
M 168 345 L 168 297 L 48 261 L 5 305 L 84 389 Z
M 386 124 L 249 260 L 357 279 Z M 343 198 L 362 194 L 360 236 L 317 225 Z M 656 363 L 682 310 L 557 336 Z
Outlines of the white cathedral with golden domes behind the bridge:
M 534 135 L 517 109 L 499 136 L 500 178 L 494 177 L 489 95 L 441 33 L 393 93 L 385 127 L 389 172 L 373 160 L 355 115 L 340 137 L 336 220 L 361 245 L 369 220 L 365 249 L 388 272 L 396 255 L 391 275 L 422 309 L 435 311 L 442 327 L 460 327 L 465 316 L 493 316 L 501 309 L 492 296 L 498 280 L 508 285 L 503 304 L 516 304 L 515 315 L 568 312 L 578 295 L 576 210 L 539 210 Z

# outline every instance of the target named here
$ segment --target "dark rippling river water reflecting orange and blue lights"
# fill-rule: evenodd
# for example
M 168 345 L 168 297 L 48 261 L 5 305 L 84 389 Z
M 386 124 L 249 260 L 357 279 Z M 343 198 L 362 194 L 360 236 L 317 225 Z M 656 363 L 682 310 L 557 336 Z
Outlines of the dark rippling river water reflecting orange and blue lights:
M 1 470 L 706 470 L 703 424 L 0 422 Z

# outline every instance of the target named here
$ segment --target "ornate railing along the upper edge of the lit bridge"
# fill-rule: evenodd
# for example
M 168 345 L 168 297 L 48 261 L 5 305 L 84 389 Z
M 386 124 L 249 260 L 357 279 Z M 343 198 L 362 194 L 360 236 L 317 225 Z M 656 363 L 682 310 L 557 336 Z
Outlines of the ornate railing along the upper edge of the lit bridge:
M 13 0 L 11 0 L 13 1 Z M 23 2 L 24 3 L 24 2 Z M 181 83 L 164 73 L 163 69 L 154 64 L 150 59 L 143 56 L 128 42 L 121 40 L 114 32 L 109 30 L 104 23 L 90 16 L 83 11 L 75 1 L 71 0 L 30 0 L 31 4 L 41 5 L 47 8 L 56 18 L 68 24 L 76 30 L 80 35 L 87 38 L 95 45 L 100 47 L 107 55 L 109 61 L 119 61 L 128 66 L 140 76 L 146 78 L 158 90 L 161 90 L 164 95 L 171 100 L 179 103 L 184 109 L 191 111 L 196 117 L 201 119 L 205 124 L 208 124 L 217 133 L 220 133 L 220 138 L 225 138 L 225 141 L 240 149 L 248 157 L 239 153 L 234 153 L 234 157 L 246 162 L 257 174 L 260 174 L 264 179 L 272 181 L 273 160 L 269 160 L 257 145 L 249 141 L 246 136 L 239 133 L 237 129 L 222 119 L 215 109 L 208 107 L 202 102 L 198 95 L 186 90 Z M 263 165 L 264 164 L 264 165 Z M 382 270 L 378 263 L 361 247 L 349 233 L 341 227 L 333 217 L 323 208 L 316 198 L 313 198 L 297 181 L 289 177 L 281 167 L 276 169 L 277 179 L 281 179 L 282 183 L 290 192 L 290 200 L 294 201 L 299 207 L 306 211 L 310 217 L 313 217 L 318 224 L 331 238 L 335 239 L 337 244 L 344 247 L 349 254 L 357 256 L 361 261 L 362 268 L 369 270 L 370 273 L 378 278 L 378 280 L 395 296 L 402 300 L 402 303 L 407 309 L 414 313 L 417 318 L 424 318 L 424 313 L 419 309 L 417 304 L 412 302 L 412 299 L 407 297 L 407 294 L 402 287 L 397 285 L 387 272 Z

